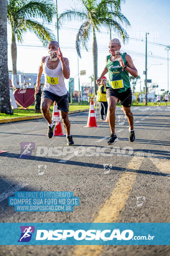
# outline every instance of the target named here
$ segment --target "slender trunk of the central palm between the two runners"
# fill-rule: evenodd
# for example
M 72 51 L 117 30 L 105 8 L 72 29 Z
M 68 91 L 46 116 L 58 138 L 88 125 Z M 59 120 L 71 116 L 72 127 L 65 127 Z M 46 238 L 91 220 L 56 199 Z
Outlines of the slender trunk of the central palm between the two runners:
M 97 92 L 97 41 L 96 41 L 96 34 L 95 29 L 93 28 L 93 70 L 94 70 L 94 96 Z

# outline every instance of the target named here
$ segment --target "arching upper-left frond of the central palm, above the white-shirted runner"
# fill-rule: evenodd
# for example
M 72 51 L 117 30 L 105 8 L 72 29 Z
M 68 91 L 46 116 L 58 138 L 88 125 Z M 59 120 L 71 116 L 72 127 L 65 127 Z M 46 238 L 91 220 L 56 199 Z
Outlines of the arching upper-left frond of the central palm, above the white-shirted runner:
M 85 18 L 87 19 L 88 15 L 85 12 L 79 12 L 75 9 L 71 9 L 62 12 L 62 14 L 59 15 L 58 20 L 65 20 L 65 18 L 67 18 L 68 21 L 70 21 L 72 18 L 74 18 L 74 20 L 82 20 Z

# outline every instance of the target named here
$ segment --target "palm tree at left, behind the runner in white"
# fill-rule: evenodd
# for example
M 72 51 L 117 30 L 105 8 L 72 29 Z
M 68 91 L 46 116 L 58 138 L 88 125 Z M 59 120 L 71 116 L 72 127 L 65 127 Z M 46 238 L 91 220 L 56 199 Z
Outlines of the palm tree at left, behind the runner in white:
M 8 21 L 12 29 L 12 73 L 14 75 L 17 74 L 16 38 L 18 42 L 22 42 L 23 34 L 29 30 L 37 35 L 43 45 L 46 45 L 55 37 L 50 29 L 37 22 L 36 19 L 42 18 L 49 23 L 55 13 L 54 3 L 50 0 L 8 0 Z

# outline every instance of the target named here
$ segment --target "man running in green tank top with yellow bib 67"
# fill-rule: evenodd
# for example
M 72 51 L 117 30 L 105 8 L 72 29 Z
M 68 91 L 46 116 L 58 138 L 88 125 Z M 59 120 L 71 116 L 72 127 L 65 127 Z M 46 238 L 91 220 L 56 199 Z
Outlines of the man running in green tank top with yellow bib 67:
M 124 114 L 129 122 L 129 141 L 135 140 L 135 132 L 133 127 L 133 113 L 130 110 L 132 102 L 132 91 L 130 89 L 130 75 L 137 77 L 138 71 L 133 65 L 132 58 L 126 52 L 120 53 L 121 44 L 119 39 L 114 38 L 109 43 L 110 55 L 106 56 L 106 66 L 96 84 L 100 85 L 102 77 L 109 72 L 109 81 L 106 86 L 106 96 L 108 100 L 109 124 L 111 128 L 111 136 L 108 144 L 114 144 L 118 141 L 115 134 L 115 109 L 116 104 L 120 100 Z

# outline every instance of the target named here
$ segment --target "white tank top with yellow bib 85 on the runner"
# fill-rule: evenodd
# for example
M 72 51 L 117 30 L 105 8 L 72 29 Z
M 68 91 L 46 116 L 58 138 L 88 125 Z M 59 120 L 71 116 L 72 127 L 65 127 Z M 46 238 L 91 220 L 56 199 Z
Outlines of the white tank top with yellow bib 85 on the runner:
M 51 70 L 47 67 L 47 61 L 50 56 L 45 58 L 43 63 L 44 77 L 45 83 L 43 90 L 47 90 L 51 93 L 54 93 L 58 96 L 63 96 L 67 93 L 67 89 L 65 87 L 64 75 L 62 72 L 61 61 L 59 60 L 59 64 L 56 69 Z

